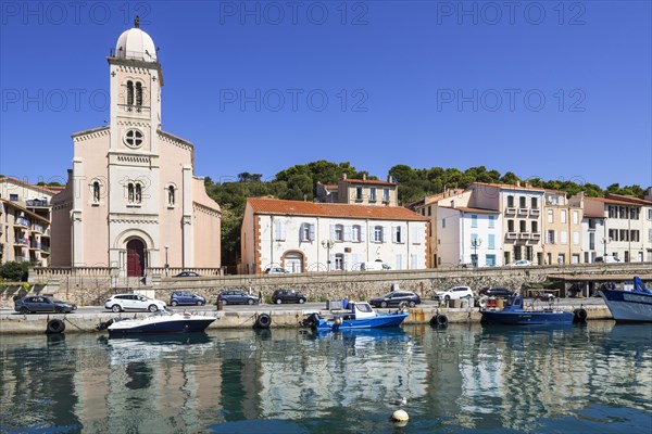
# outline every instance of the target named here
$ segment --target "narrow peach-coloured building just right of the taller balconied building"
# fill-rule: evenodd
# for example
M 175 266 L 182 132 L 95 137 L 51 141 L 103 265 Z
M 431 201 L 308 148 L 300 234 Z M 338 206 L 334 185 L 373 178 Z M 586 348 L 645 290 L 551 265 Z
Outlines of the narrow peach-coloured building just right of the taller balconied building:
M 566 192 L 543 193 L 543 264 L 579 264 L 582 254 L 581 197 L 566 197 Z

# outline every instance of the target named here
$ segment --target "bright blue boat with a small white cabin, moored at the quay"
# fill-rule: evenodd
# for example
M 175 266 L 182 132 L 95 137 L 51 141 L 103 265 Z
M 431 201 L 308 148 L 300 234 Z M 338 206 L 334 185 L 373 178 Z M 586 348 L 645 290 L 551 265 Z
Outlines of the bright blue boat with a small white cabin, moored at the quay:
M 349 310 L 335 314 L 333 318 L 322 318 L 319 314 L 311 314 L 301 321 L 301 327 L 312 328 L 318 332 L 375 329 L 398 327 L 408 317 L 408 312 L 404 310 L 377 314 L 366 302 L 350 302 L 348 306 Z

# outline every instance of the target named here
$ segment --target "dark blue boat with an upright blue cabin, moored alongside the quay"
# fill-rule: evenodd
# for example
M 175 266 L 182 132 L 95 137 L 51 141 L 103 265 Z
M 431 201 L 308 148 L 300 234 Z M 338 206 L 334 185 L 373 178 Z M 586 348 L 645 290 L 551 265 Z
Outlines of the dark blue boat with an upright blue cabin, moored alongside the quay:
M 572 324 L 574 312 L 547 308 L 543 310 L 524 310 L 523 297 L 513 296 L 505 299 L 502 310 L 481 309 L 484 324 Z

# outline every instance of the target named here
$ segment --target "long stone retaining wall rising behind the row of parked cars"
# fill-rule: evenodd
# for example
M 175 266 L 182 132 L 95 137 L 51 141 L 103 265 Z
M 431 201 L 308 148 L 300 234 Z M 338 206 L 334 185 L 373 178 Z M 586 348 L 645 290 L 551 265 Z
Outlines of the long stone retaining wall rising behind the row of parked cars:
M 165 273 L 149 275 L 142 279 L 111 276 L 110 268 L 60 269 L 40 268 L 30 275 L 34 282 L 30 294 L 51 294 L 78 306 L 103 305 L 112 294 L 137 292 L 170 299 L 175 290 L 190 290 L 214 304 L 223 290 L 244 290 L 269 301 L 276 289 L 293 289 L 311 302 L 326 299 L 368 299 L 391 290 L 413 291 L 422 298 L 431 299 L 437 291 L 454 285 L 468 285 L 474 291 L 482 288 L 506 286 L 522 290 L 550 279 L 587 276 L 604 278 L 610 275 L 650 275 L 651 263 L 575 264 L 540 267 L 438 268 L 424 270 L 333 271 L 297 275 L 236 275 L 175 279 Z M 566 296 L 569 283 L 563 284 L 560 296 Z M 0 291 L 0 307 L 13 307 L 13 298 L 26 294 L 23 286 L 7 286 Z M 588 296 L 589 294 L 584 294 Z

